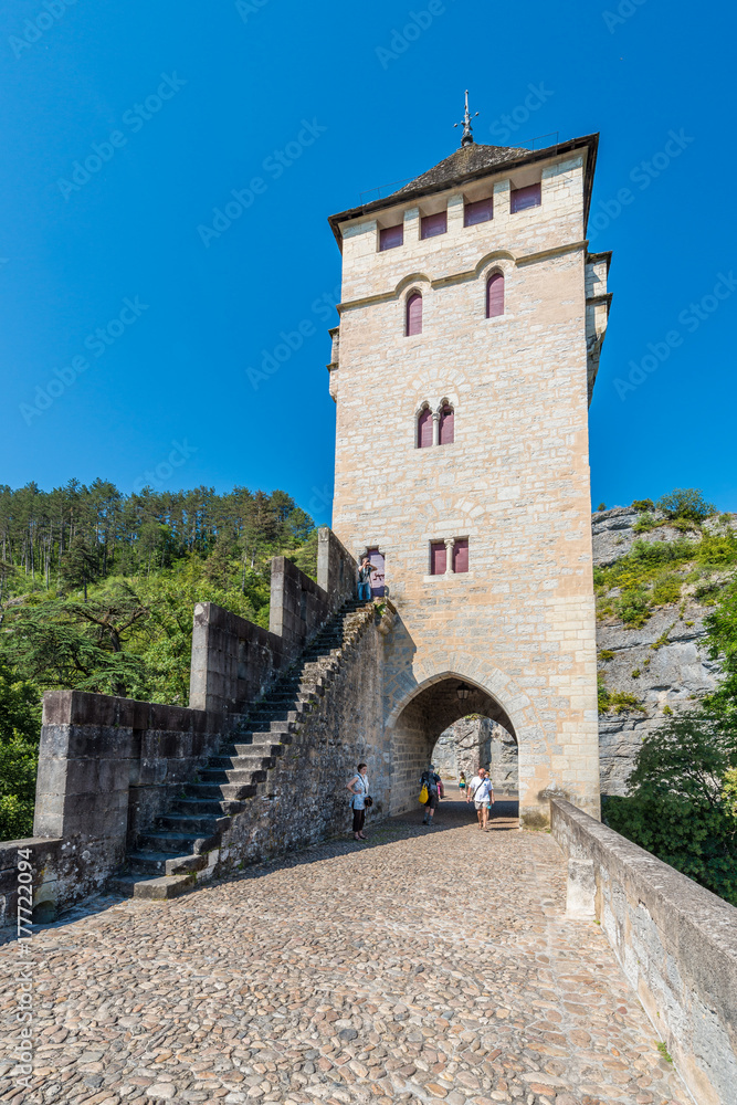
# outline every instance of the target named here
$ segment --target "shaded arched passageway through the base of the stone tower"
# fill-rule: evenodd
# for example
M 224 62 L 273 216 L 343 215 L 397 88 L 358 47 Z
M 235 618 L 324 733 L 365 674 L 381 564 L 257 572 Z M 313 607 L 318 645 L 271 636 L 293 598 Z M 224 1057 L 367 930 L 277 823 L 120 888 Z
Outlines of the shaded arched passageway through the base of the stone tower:
M 468 741 L 468 766 L 463 768 L 466 777 L 470 777 L 468 771 L 474 774 L 480 766 L 488 767 L 491 762 L 493 767 L 494 748 L 498 745 L 497 764 L 499 772 L 504 768 L 506 778 L 504 790 L 509 797 L 517 797 L 517 736 L 509 716 L 502 704 L 483 687 L 463 676 L 449 673 L 418 690 L 392 727 L 392 813 L 415 808 L 422 771 L 434 762 L 436 749 L 443 749 L 443 740 L 448 741 L 446 735 L 451 727 L 468 718 L 485 724 L 475 724 L 473 727 L 475 736 Z M 503 745 L 507 746 L 504 756 L 501 750 Z M 508 746 L 514 747 L 514 754 Z M 440 774 L 444 779 L 448 778 L 442 769 Z M 495 789 L 501 779 L 499 774 Z M 451 781 L 456 782 L 457 775 Z

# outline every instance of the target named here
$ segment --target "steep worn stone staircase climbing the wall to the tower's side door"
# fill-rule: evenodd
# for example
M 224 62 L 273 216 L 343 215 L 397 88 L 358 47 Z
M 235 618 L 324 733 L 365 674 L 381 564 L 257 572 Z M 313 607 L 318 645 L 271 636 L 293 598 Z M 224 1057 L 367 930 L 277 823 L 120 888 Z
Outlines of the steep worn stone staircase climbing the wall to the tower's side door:
M 183 894 L 208 866 L 232 819 L 270 794 L 270 772 L 340 670 L 347 650 L 375 619 L 372 602 L 351 599 L 307 643 L 244 715 L 217 755 L 182 788 L 166 813 L 138 835 L 110 891 L 144 898 Z M 200 878 L 202 875 L 200 874 Z

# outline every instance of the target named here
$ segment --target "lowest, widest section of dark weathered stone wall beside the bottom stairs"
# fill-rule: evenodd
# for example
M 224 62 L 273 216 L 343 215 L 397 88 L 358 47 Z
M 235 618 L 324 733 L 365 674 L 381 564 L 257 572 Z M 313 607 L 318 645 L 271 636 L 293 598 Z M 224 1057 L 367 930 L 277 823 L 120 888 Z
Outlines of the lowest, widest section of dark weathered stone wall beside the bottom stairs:
M 217 750 L 220 714 L 51 691 L 43 699 L 34 836 L 0 845 L 0 923 L 14 919 L 20 848 L 34 864 L 34 918 L 99 893 L 137 834 Z

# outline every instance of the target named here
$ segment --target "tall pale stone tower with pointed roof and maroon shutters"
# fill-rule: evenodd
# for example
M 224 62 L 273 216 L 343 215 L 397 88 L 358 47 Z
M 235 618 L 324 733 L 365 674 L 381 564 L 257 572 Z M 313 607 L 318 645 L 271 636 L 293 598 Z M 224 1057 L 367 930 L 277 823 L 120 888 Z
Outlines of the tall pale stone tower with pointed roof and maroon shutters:
M 598 136 L 463 144 L 329 220 L 333 528 L 396 608 L 372 770 L 417 800 L 440 734 L 480 713 L 519 748 L 520 813 L 599 814 L 588 403 L 611 255 L 586 228 Z M 376 593 L 378 593 L 378 588 Z

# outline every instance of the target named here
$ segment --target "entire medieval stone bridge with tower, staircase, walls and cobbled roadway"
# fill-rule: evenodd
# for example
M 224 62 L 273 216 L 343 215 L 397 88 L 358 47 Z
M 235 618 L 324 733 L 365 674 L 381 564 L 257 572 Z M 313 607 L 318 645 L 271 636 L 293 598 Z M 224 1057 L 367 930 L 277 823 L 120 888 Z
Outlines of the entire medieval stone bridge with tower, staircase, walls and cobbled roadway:
M 189 707 L 44 696 L 34 838 L 0 845 L 4 917 L 21 852 L 39 923 L 118 897 L 31 941 L 40 1008 L 52 994 L 69 1020 L 46 1025 L 32 1086 L 64 1072 L 72 1096 L 40 1099 L 734 1105 L 737 912 L 599 820 L 597 148 L 480 146 L 466 109 L 460 149 L 333 215 L 336 494 L 317 580 L 275 558 L 269 630 L 196 607 Z M 524 831 L 482 836 L 461 809 L 427 840 L 419 775 L 471 713 L 517 744 L 504 828 Z M 359 760 L 379 827 L 358 854 L 343 840 Z M 65 940 L 86 1003 L 56 967 Z M 188 1002 L 211 1010 L 200 1029 Z

